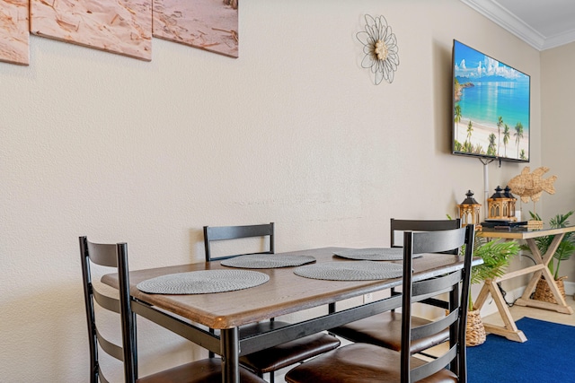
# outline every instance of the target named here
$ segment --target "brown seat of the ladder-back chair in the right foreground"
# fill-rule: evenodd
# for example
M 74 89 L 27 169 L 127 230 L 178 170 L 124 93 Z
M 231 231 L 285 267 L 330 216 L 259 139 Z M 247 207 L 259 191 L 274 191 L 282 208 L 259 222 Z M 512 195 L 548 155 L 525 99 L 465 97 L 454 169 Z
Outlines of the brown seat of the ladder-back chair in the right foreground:
M 286 374 L 288 383 L 385 383 L 401 382 L 401 353 L 373 344 L 349 344 L 306 361 Z M 424 364 L 411 357 L 411 367 Z M 455 383 L 450 370 L 440 370 L 421 383 Z

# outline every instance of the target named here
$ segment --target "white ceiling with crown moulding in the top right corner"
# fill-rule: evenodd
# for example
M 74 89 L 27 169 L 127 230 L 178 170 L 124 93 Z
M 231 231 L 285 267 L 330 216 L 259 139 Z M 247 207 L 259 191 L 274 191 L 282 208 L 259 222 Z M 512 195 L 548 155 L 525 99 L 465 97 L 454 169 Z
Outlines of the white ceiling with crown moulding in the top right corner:
M 575 0 L 461 0 L 538 50 L 575 41 Z

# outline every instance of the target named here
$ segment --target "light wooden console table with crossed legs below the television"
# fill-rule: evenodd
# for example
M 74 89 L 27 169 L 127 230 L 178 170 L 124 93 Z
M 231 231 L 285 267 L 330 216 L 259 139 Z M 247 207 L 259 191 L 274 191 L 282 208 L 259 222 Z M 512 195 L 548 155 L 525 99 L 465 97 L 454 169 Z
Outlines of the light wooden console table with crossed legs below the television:
M 483 228 L 482 231 L 478 232 L 479 236 L 488 239 L 525 240 L 526 244 L 529 246 L 529 250 L 531 251 L 533 256 L 532 259 L 534 261 L 534 265 L 522 267 L 514 271 L 507 271 L 505 274 L 496 278 L 485 280 L 482 285 L 482 290 L 479 292 L 479 295 L 475 300 L 475 306 L 473 309 L 482 309 L 487 298 L 491 295 L 503 321 L 503 325 L 484 323 L 483 326 L 485 326 L 485 331 L 491 334 L 505 336 L 507 339 L 512 341 L 520 343 L 526 342 L 526 335 L 523 331 L 517 328 L 515 320 L 509 311 L 508 302 L 505 300 L 505 297 L 501 293 L 498 285 L 502 281 L 517 278 L 517 276 L 521 275 L 531 274 L 531 277 L 525 290 L 521 294 L 521 297 L 519 297 L 514 304 L 535 309 L 553 310 L 568 315 L 573 314 L 573 309 L 571 309 L 563 298 L 562 292 L 560 292 L 559 287 L 553 278 L 553 274 L 551 274 L 548 268 L 549 262 L 553 259 L 553 254 L 559 247 L 563 237 L 566 233 L 572 231 L 575 231 L 575 225 L 563 228 L 543 227 L 541 229 L 530 229 L 526 227 L 501 227 L 497 229 Z M 544 236 L 551 236 L 553 239 L 545 254 L 541 254 L 541 251 L 537 248 L 536 239 Z M 542 280 L 542 278 L 544 283 L 547 283 L 549 286 L 551 292 L 553 292 L 553 297 L 556 303 L 534 300 L 531 298 L 531 294 L 535 291 L 537 283 Z

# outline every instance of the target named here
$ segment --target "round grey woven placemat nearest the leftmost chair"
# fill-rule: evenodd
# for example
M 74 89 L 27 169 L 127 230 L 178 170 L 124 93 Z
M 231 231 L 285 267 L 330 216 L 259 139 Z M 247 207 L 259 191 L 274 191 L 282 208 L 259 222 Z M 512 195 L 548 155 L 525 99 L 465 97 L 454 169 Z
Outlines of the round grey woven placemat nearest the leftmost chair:
M 234 292 L 259 286 L 270 275 L 249 270 L 200 270 L 167 274 L 137 283 L 137 289 L 152 294 L 208 294 Z

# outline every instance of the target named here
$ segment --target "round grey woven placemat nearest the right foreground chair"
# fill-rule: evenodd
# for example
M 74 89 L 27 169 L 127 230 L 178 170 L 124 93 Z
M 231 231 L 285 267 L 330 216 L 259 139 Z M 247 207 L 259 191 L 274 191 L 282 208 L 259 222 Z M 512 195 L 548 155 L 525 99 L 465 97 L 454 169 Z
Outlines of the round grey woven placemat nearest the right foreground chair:
M 299 266 L 294 274 L 327 281 L 375 281 L 403 275 L 403 265 L 372 261 L 324 262 Z

